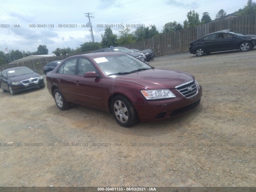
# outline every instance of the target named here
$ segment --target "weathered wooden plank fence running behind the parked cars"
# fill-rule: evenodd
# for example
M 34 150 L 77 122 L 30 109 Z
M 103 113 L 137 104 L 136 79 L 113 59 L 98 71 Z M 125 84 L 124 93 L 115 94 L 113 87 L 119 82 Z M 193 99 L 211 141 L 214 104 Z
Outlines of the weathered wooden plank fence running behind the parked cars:
M 164 56 L 182 52 L 184 53 L 188 52 L 190 42 L 206 34 L 225 29 L 232 29 L 237 33 L 256 34 L 256 13 L 233 18 L 226 18 L 224 20 L 207 23 L 204 25 L 196 26 L 194 28 L 160 34 L 158 36 L 154 36 L 152 38 L 124 46 L 130 49 L 133 48 L 138 50 L 150 48 L 154 52 L 155 56 Z M 64 55 L 58 57 L 47 57 L 15 64 L 6 64 L 0 66 L 0 71 L 16 66 L 28 66 L 31 69 L 37 70 L 38 73 L 43 74 L 42 68 L 48 62 L 62 60 L 68 56 Z

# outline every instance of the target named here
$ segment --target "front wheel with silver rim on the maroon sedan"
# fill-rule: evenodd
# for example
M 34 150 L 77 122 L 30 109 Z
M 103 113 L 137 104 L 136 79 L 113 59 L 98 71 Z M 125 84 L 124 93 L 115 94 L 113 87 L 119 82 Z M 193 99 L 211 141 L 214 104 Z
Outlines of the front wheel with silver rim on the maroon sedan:
M 122 95 L 113 98 L 111 110 L 116 122 L 123 127 L 130 127 L 138 122 L 138 115 L 134 106 Z

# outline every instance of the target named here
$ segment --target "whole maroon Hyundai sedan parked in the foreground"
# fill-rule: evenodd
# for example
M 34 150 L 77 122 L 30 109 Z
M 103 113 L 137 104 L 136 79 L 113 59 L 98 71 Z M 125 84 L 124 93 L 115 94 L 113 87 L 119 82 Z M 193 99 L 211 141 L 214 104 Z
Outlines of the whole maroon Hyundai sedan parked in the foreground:
M 156 69 L 119 52 L 71 56 L 46 81 L 61 110 L 70 103 L 105 110 L 124 127 L 178 116 L 196 107 L 202 96 L 193 75 Z

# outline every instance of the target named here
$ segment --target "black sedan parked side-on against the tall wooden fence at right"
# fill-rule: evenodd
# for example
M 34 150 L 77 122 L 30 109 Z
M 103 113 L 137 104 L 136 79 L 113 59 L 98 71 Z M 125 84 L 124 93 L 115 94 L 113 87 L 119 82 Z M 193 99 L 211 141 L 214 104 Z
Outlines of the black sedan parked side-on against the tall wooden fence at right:
M 208 34 L 191 42 L 189 52 L 202 56 L 205 53 L 227 50 L 250 51 L 254 46 L 256 46 L 256 35 L 238 34 L 228 29 Z

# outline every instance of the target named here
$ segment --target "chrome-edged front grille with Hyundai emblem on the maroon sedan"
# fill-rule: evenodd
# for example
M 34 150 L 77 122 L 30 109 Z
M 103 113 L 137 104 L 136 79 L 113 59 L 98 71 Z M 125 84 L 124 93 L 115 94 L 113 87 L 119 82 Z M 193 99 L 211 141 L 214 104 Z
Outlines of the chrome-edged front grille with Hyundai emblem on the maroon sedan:
M 190 98 L 198 93 L 198 88 L 194 80 L 175 87 L 185 98 Z

